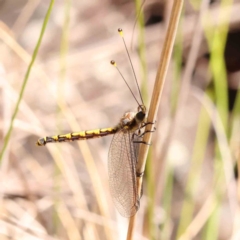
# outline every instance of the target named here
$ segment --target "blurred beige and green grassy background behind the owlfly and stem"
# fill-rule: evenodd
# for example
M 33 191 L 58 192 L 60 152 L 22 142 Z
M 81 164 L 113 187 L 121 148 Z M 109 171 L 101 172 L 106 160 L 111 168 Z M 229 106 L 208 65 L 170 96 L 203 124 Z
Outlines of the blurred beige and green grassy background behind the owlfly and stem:
M 0 169 L 0 239 L 126 239 L 108 187 L 112 137 L 37 147 L 147 108 L 173 1 L 56 1 Z M 142 4 L 142 7 L 141 7 Z M 50 1 L 0 0 L 0 147 Z M 185 1 L 134 239 L 240 239 L 240 1 Z M 2 150 L 1 150 L 2 151 Z

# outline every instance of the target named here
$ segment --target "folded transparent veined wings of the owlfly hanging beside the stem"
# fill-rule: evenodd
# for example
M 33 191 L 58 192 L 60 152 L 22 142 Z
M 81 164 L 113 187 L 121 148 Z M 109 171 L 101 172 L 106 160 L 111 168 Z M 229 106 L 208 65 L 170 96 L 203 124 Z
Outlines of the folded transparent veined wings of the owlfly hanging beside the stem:
M 124 217 L 133 216 L 140 205 L 136 183 L 137 156 L 132 133 L 117 132 L 109 150 L 109 187 L 114 204 Z

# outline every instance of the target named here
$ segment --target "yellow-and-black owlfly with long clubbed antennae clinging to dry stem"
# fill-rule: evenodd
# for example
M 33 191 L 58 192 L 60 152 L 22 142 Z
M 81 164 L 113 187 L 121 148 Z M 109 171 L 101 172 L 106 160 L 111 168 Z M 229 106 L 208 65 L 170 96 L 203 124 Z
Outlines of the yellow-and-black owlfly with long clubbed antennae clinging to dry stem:
M 124 46 L 126 48 L 128 58 L 137 83 L 133 64 L 123 37 L 123 31 L 122 29 L 118 29 L 118 32 L 123 39 Z M 120 122 L 115 127 L 44 137 L 38 139 L 37 145 L 44 146 L 47 143 L 52 142 L 88 140 L 113 134 L 113 139 L 108 155 L 110 192 L 119 213 L 124 217 L 131 217 L 138 211 L 140 207 L 140 196 L 137 191 L 137 177 L 142 177 L 143 173 L 136 172 L 139 144 L 148 144 L 142 141 L 142 137 L 146 133 L 146 131 L 143 131 L 143 129 L 147 124 L 153 123 L 146 122 L 146 107 L 143 104 L 138 83 L 137 87 L 142 104 L 140 104 L 134 96 L 128 83 L 126 82 L 122 73 L 119 71 L 115 61 L 111 61 L 111 64 L 117 68 L 118 72 L 122 76 L 127 87 L 129 88 L 133 97 L 138 103 L 137 112 L 125 113 L 120 119 Z

